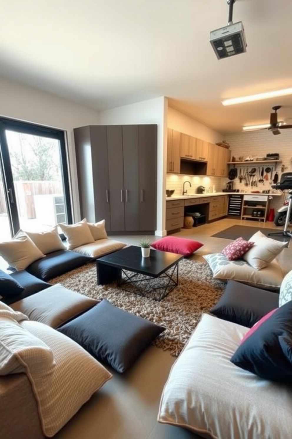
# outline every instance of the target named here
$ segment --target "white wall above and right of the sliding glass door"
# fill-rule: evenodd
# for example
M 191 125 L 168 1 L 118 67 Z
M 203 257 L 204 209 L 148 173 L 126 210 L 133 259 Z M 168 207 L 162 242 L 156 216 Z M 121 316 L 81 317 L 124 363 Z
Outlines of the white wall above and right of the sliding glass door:
M 74 219 L 80 219 L 73 128 L 99 123 L 99 113 L 0 76 L 0 115 L 67 132 Z

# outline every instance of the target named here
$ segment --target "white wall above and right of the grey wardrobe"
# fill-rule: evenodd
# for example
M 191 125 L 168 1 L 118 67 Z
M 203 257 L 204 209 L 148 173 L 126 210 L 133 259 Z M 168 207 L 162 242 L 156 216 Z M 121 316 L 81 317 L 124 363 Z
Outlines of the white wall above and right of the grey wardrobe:
M 166 111 L 167 99 L 162 96 L 99 113 L 99 123 L 101 125 L 157 125 L 157 221 L 155 235 L 158 236 L 166 234 L 164 201 L 167 149 L 167 136 L 165 136 L 165 133 L 167 133 Z

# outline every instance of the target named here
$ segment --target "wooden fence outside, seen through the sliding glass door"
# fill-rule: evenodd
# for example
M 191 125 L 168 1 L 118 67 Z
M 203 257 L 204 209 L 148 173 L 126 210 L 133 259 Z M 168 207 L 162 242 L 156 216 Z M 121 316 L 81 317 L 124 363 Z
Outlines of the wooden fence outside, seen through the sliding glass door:
M 18 215 L 22 218 L 35 218 L 35 195 L 63 194 L 60 181 L 14 181 Z M 0 182 L 0 215 L 7 214 L 5 189 Z

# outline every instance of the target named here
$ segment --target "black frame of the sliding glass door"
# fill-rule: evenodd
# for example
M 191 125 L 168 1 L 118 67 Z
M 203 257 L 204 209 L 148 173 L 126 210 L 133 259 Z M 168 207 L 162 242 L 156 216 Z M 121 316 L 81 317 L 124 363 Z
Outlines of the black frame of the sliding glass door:
M 11 235 L 14 236 L 20 226 L 18 209 L 16 204 L 16 194 L 11 169 L 11 161 L 9 156 L 9 148 L 5 135 L 5 130 L 16 131 L 20 133 L 32 134 L 40 137 L 49 137 L 59 140 L 60 145 L 60 162 L 62 183 L 65 198 L 65 209 L 68 224 L 72 224 L 72 206 L 70 197 L 70 183 L 68 172 L 67 147 L 65 142 L 65 132 L 55 128 L 42 125 L 36 125 L 28 122 L 20 122 L 15 119 L 7 119 L 0 117 L 0 166 L 4 184 L 5 199 L 7 204 L 7 212 L 10 223 Z

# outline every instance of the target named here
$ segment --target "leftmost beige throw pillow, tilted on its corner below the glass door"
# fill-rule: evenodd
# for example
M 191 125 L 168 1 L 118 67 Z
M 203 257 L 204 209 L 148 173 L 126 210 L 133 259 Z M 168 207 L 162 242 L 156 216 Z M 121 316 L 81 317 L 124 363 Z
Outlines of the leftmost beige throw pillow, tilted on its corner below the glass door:
M 11 241 L 0 242 L 0 256 L 18 271 L 25 270 L 32 262 L 45 257 L 30 237 L 22 231 L 19 231 Z

